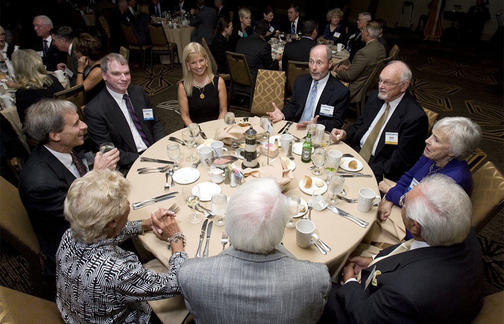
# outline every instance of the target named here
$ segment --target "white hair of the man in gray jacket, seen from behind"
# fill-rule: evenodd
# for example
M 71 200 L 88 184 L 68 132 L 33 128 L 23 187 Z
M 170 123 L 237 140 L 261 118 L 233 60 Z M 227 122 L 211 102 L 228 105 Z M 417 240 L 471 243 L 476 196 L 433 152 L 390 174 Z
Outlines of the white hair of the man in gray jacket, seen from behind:
M 236 249 L 265 254 L 280 243 L 288 220 L 287 201 L 276 180 L 258 178 L 233 193 L 224 226 Z

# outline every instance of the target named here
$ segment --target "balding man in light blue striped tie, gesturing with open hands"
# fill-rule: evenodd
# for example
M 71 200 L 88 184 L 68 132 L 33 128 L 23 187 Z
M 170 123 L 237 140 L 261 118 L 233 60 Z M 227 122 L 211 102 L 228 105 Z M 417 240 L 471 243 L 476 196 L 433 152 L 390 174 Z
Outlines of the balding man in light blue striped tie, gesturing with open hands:
M 267 112 L 273 122 L 290 120 L 297 122 L 297 128 L 315 122 L 325 125 L 328 131 L 343 125 L 350 91 L 329 73 L 333 64 L 331 56 L 331 49 L 326 45 L 311 49 L 310 74 L 296 78 L 290 101 L 282 111 L 273 103 L 273 112 Z

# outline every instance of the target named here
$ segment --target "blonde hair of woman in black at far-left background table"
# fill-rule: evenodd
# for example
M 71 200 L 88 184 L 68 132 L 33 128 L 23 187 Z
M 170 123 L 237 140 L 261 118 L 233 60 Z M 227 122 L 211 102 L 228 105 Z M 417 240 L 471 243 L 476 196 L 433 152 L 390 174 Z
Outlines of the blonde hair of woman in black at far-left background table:
M 52 79 L 42 63 L 42 58 L 33 49 L 19 49 L 12 53 L 14 74 L 21 89 L 47 89 Z

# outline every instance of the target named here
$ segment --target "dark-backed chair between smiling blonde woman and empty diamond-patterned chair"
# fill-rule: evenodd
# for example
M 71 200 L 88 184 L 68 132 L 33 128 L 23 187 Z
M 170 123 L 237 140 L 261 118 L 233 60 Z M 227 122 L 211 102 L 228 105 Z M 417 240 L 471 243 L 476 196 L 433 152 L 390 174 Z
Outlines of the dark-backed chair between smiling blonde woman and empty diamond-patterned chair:
M 227 98 L 228 108 L 244 110 L 250 113 L 252 108 L 252 100 L 254 99 L 254 81 L 250 75 L 247 59 L 245 55 L 226 51 L 226 61 L 229 70 L 229 95 Z M 236 86 L 241 86 L 242 89 L 236 89 Z M 248 97 L 248 106 L 232 105 L 231 99 L 234 94 L 239 94 Z

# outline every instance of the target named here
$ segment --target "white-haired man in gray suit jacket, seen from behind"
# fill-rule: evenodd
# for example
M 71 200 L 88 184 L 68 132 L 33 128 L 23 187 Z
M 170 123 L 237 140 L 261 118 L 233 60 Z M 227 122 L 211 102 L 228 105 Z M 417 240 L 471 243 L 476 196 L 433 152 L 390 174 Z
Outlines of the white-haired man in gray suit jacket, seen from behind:
M 328 269 L 297 260 L 282 244 L 289 209 L 273 178 L 241 185 L 229 199 L 225 229 L 232 246 L 193 258 L 178 285 L 196 322 L 314 323 L 331 288 Z

